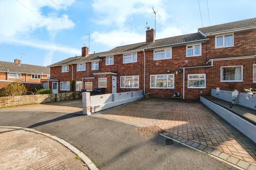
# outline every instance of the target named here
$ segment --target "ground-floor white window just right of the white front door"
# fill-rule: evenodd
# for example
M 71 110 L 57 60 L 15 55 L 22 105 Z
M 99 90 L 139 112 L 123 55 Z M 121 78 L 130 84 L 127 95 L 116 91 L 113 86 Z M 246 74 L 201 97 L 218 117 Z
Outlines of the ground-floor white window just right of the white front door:
M 122 76 L 121 88 L 139 88 L 139 75 Z

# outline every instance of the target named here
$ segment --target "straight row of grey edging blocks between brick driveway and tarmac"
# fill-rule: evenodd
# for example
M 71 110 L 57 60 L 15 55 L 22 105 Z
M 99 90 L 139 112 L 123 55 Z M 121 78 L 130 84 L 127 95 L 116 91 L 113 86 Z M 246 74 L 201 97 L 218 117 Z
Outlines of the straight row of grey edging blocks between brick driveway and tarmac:
M 233 157 L 231 155 L 225 154 L 224 152 L 221 152 L 216 149 L 212 149 L 210 147 L 207 147 L 205 145 L 202 145 L 201 143 L 194 142 L 192 140 L 188 140 L 182 137 L 179 137 L 178 135 L 172 134 L 170 132 L 165 132 L 160 134 L 165 138 L 169 138 L 175 142 L 181 143 L 182 145 L 185 145 L 189 148 L 205 152 L 206 154 L 217 158 L 221 160 L 222 162 L 225 162 L 229 165 L 232 165 L 238 169 L 254 169 L 256 168 L 255 165 L 245 162 L 244 160 L 238 159 L 236 157 Z

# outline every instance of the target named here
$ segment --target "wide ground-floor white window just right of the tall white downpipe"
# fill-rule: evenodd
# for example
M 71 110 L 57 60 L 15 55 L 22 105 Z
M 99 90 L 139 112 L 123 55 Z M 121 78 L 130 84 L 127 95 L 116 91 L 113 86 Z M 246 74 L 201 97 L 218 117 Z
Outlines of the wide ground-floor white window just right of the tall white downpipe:
M 150 75 L 150 89 L 174 89 L 174 74 Z

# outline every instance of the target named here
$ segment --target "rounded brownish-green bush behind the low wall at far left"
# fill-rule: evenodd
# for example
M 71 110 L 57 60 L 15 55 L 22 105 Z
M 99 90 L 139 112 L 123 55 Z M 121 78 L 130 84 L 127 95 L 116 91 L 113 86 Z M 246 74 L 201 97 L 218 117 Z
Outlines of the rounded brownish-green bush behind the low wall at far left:
M 13 82 L 0 90 L 0 96 L 21 96 L 26 93 L 26 86 L 19 82 Z

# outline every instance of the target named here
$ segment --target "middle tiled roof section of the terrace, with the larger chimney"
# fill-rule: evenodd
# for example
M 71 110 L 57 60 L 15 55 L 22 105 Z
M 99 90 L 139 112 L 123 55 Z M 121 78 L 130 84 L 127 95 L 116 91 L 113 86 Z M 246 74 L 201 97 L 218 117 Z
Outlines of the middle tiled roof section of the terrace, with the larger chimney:
M 118 46 L 109 50 L 108 52 L 105 52 L 103 55 L 129 52 L 133 50 L 156 48 L 156 47 L 162 47 L 162 46 L 171 46 L 175 44 L 188 43 L 190 41 L 197 41 L 197 40 L 204 40 L 204 39 L 205 37 L 202 36 L 201 33 L 196 32 L 196 33 L 190 33 L 187 35 L 157 39 L 155 40 L 154 43 L 143 42 L 143 43 L 130 44 L 125 46 Z

